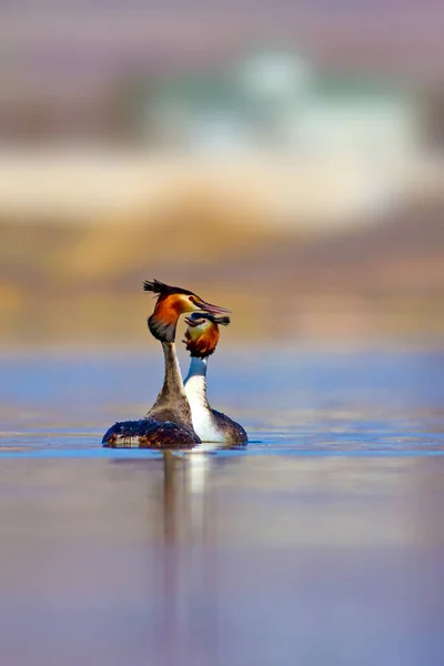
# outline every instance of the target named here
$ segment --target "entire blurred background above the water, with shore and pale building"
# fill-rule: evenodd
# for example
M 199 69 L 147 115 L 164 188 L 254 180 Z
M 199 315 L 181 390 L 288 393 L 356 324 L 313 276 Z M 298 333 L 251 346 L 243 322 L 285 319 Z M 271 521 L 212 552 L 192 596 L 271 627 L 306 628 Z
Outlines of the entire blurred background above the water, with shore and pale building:
M 144 344 L 155 276 L 231 344 L 440 346 L 443 14 L 3 0 L 0 344 Z

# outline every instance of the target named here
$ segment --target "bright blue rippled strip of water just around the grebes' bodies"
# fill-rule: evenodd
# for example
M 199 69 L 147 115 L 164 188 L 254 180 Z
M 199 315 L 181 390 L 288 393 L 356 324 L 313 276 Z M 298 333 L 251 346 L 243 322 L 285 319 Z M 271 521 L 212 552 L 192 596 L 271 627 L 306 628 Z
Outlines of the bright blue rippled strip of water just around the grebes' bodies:
M 103 432 L 142 416 L 162 380 L 161 360 L 140 351 L 3 356 L 0 372 L 2 441 L 58 455 L 108 455 Z M 209 395 L 249 431 L 243 455 L 438 454 L 444 442 L 438 353 L 238 352 L 211 360 Z

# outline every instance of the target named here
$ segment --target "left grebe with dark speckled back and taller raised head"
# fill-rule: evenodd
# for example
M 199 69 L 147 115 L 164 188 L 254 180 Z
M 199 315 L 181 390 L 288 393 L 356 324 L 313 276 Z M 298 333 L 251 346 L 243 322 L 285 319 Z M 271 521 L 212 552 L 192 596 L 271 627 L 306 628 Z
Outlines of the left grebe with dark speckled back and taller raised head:
M 181 314 L 204 310 L 221 314 L 229 312 L 205 303 L 193 292 L 169 286 L 158 280 L 144 282 L 147 292 L 159 294 L 154 312 L 148 320 L 152 335 L 162 343 L 165 374 L 155 403 L 139 421 L 123 421 L 112 425 L 102 444 L 109 447 L 137 445 L 140 448 L 183 448 L 200 443 L 193 431 L 190 404 L 183 387 L 175 354 L 175 329 Z

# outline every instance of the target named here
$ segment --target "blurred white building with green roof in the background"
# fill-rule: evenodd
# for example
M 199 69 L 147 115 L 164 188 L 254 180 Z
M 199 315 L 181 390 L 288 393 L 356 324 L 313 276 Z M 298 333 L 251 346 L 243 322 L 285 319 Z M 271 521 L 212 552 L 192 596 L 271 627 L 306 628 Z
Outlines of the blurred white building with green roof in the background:
M 342 203 L 340 216 L 380 211 L 402 196 L 421 154 L 420 115 L 407 93 L 379 81 L 325 79 L 291 53 L 262 53 L 213 78 L 165 81 L 141 118 L 142 134 L 147 127 L 147 137 L 154 133 L 165 149 L 189 155 L 250 155 L 282 160 L 284 169 L 290 161 L 306 174 L 331 171 L 329 186 L 317 183 L 315 193 L 313 182 L 309 190 L 314 198 L 330 190 Z M 292 195 L 280 196 L 281 210 L 294 214 Z

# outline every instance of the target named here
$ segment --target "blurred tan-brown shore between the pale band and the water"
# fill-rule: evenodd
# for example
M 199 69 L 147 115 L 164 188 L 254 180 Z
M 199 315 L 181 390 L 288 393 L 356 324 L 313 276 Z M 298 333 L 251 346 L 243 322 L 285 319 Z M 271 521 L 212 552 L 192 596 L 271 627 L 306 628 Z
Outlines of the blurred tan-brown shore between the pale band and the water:
M 155 276 L 232 310 L 226 345 L 442 346 L 443 208 L 323 233 L 252 224 L 249 208 L 206 196 L 148 225 L 3 222 L 0 344 L 143 346 L 141 285 Z

